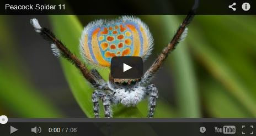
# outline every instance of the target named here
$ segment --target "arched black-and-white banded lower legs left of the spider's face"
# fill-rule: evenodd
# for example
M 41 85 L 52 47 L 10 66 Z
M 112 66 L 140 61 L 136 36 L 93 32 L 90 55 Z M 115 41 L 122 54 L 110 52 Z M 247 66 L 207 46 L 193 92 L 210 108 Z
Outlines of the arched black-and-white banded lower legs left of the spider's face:
M 104 105 L 105 117 L 106 118 L 112 117 L 112 111 L 111 111 L 111 106 L 110 106 L 110 97 L 108 94 L 106 94 L 100 90 L 94 90 L 93 95 L 92 95 L 94 117 L 95 118 L 99 117 L 98 99 L 102 99 L 102 102 Z

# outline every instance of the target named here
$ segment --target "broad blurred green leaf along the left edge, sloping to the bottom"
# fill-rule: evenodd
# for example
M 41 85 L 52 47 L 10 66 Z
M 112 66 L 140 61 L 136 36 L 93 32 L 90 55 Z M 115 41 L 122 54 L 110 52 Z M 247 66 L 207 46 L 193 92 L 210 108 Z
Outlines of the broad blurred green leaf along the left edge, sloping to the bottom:
M 5 104 L 4 108 L 12 111 L 14 114 L 10 116 L 14 117 L 62 117 L 60 111 L 26 80 L 8 21 L 7 16 L 0 15 L 0 28 L 3 28 L 0 32 L 1 104 Z

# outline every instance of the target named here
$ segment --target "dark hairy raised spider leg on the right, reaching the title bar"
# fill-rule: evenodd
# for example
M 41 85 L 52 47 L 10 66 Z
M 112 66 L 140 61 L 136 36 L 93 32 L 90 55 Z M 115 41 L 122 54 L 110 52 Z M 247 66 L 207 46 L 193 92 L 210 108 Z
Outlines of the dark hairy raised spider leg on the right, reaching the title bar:
M 182 41 L 186 37 L 186 34 L 188 32 L 188 26 L 191 22 L 191 20 L 194 18 L 195 11 L 191 10 L 188 15 L 186 15 L 186 18 L 183 20 L 182 24 L 179 26 L 177 32 L 172 38 L 172 41 L 169 42 L 168 46 L 162 50 L 162 53 L 158 55 L 157 59 L 154 61 L 154 63 L 151 65 L 150 69 L 148 69 L 145 74 L 141 78 L 142 84 L 149 84 L 150 80 L 152 79 L 154 73 L 156 73 L 161 65 L 163 64 L 164 60 L 166 60 L 168 54 L 172 52 L 177 44 Z

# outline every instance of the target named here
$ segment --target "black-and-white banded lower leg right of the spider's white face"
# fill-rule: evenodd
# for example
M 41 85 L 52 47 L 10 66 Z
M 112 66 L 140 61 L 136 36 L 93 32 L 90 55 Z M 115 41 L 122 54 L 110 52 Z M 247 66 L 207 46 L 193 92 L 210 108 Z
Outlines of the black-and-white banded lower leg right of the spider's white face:
M 156 86 L 154 86 L 154 84 L 150 84 L 147 88 L 147 93 L 149 94 L 149 100 L 150 103 L 148 104 L 148 117 L 152 118 L 154 115 L 154 109 L 156 108 L 156 101 L 158 98 L 158 91 Z

